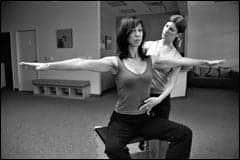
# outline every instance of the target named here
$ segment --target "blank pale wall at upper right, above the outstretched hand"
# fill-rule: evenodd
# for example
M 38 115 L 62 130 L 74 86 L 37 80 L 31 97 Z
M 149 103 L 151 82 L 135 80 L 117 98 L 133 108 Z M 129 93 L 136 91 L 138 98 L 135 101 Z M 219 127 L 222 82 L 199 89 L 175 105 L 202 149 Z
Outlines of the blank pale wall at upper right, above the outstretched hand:
M 239 71 L 239 7 L 237 1 L 188 2 L 188 56 L 227 60 Z

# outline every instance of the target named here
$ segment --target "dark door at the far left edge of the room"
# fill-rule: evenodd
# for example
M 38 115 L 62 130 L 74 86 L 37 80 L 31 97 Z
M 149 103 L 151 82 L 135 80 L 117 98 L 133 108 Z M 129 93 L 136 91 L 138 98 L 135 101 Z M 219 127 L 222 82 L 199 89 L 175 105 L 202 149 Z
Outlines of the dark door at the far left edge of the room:
M 11 45 L 10 45 L 9 32 L 1 32 L 0 44 L 1 44 L 0 45 L 1 46 L 1 49 L 0 49 L 1 50 L 1 84 L 3 83 L 4 87 L 13 90 L 13 72 L 12 72 Z

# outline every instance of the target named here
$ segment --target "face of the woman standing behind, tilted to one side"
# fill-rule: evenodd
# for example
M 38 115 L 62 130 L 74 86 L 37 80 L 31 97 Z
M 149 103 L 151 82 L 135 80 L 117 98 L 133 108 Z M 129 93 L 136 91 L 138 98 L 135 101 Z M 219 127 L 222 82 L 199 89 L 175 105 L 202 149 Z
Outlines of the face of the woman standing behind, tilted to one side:
M 178 35 L 178 31 L 175 23 L 167 22 L 163 27 L 162 38 L 174 40 L 177 37 L 177 35 Z

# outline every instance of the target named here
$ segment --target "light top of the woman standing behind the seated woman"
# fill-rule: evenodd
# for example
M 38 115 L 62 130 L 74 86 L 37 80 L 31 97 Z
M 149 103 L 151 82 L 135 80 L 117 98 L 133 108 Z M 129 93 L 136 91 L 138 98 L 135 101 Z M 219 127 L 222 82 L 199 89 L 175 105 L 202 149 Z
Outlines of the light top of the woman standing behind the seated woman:
M 153 41 L 153 44 L 150 46 L 150 48 L 147 51 L 147 55 L 158 55 L 160 58 L 161 57 L 182 57 L 179 53 L 175 54 L 168 54 L 168 55 L 163 55 L 158 51 L 158 45 L 159 45 L 159 40 L 158 41 Z M 174 68 L 172 67 L 167 67 L 167 68 L 156 68 L 153 67 L 152 69 L 152 74 L 153 74 L 153 79 L 152 79 L 152 85 L 151 85 L 151 93 L 153 94 L 161 94 L 165 86 L 169 80 L 169 75 L 172 73 Z

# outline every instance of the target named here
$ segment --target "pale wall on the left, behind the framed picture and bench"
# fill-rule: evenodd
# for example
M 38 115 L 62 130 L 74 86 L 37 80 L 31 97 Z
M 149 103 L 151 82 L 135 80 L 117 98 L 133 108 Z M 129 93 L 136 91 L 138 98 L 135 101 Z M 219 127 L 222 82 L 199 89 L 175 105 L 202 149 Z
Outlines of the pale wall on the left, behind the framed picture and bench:
M 99 1 L 72 2 L 4 2 L 2 31 L 11 33 L 11 54 L 14 88 L 18 88 L 16 32 L 36 29 L 39 61 L 46 62 L 74 57 L 99 58 Z M 73 48 L 56 47 L 56 30 L 72 28 Z M 91 94 L 101 94 L 100 73 L 89 71 L 41 71 L 39 78 L 90 80 Z

